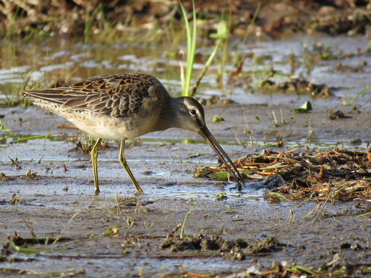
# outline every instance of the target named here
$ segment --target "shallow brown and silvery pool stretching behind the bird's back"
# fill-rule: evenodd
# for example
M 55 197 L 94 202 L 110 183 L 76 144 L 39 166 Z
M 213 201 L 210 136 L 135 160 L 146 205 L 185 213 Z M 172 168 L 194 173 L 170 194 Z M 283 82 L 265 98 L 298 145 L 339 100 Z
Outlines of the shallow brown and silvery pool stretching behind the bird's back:
M 370 86 L 368 74 L 370 72 L 370 56 L 360 54 L 358 56 L 334 61 L 322 60 L 313 65 L 310 75 L 304 64 L 306 50 L 313 51 L 313 44 L 323 43 L 324 46 L 332 47 L 334 54 L 350 53 L 356 54 L 359 49 L 367 46 L 368 39 L 364 37 L 326 37 L 306 36 L 292 37 L 281 41 L 248 42 L 246 45 L 229 44 L 229 59 L 227 59 L 225 70 L 234 70 L 232 67 L 234 56 L 240 48 L 241 56 L 245 57 L 242 73 L 251 73 L 252 83 L 259 78 L 259 70 L 269 69 L 273 64 L 276 75 L 272 80 L 286 80 L 290 75 L 288 56 L 295 55 L 296 69 L 293 76 L 302 75 L 315 84 L 326 84 L 336 89 L 336 97 L 324 99 L 313 99 L 311 96 L 298 96 L 294 93 L 251 93 L 249 89 L 240 86 L 223 86 L 219 88 L 216 82 L 218 66 L 212 64 L 203 77 L 198 94 L 207 97 L 209 95 L 226 95 L 239 103 L 262 104 L 281 103 L 309 99 L 315 105 L 325 105 L 331 108 L 341 105 L 338 97 L 348 100 L 355 96 L 360 90 Z M 305 46 L 306 48 L 304 48 Z M 179 49 L 184 47 L 179 46 Z M 16 49 L 16 51 L 14 51 Z M 203 59 L 196 59 L 194 64 L 193 78 L 203 68 L 204 59 L 207 58 L 211 47 L 197 49 Z M 95 76 L 127 73 L 147 72 L 165 85 L 171 95 L 180 95 L 180 67 L 176 58 L 172 58 L 166 44 L 157 47 L 143 47 L 140 45 L 101 45 L 75 42 L 70 39 L 48 38 L 44 40 L 34 39 L 24 44 L 2 44 L 0 53 L 3 59 L 0 61 L 0 100 L 9 97 L 13 90 L 17 90 L 25 79 L 29 82 L 41 82 L 40 89 L 52 85 L 57 78 L 69 76 L 68 83 L 79 82 Z M 16 53 L 14 55 L 14 53 Z M 251 55 L 254 53 L 254 56 Z M 359 62 L 366 62 L 362 72 L 351 70 L 334 70 L 336 63 L 346 66 L 357 67 Z M 227 73 L 223 75 L 223 84 L 226 84 Z M 254 81 L 255 80 L 255 81 Z M 352 80 L 350 84 L 348 80 Z M 193 81 L 194 82 L 194 81 Z M 358 97 L 359 103 L 370 105 L 367 94 Z

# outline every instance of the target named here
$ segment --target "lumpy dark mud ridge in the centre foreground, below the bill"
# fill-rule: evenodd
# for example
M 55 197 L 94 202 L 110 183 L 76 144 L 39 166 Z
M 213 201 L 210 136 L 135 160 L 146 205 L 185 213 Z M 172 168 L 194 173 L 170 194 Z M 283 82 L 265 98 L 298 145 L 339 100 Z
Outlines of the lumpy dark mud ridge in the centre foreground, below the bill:
M 181 239 L 179 236 L 170 236 L 162 243 L 161 249 L 170 249 L 171 253 L 183 251 L 216 251 L 223 258 L 243 260 L 248 255 L 270 253 L 280 249 L 280 244 L 275 237 L 258 240 L 249 245 L 241 238 L 225 241 L 221 236 L 198 236 Z

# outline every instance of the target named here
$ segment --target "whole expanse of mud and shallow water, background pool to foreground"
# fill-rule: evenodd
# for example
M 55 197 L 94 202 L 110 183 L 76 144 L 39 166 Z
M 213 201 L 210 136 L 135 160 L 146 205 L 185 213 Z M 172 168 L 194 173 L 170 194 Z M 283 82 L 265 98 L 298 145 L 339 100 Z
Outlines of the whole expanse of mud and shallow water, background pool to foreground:
M 371 128 L 369 93 L 355 100 L 360 113 L 347 114 L 351 118 L 330 121 L 328 114 L 330 109 L 351 111 L 351 106 L 343 106 L 342 98 L 348 102 L 349 97 L 370 86 L 370 56 L 349 55 L 344 59 L 321 61 L 307 75 L 306 67 L 300 63 L 305 56 L 302 45 L 310 48 L 315 40 L 332 46 L 334 53 L 357 53 L 359 47 L 363 49 L 368 43 L 367 39 L 360 37 L 318 36 L 250 42 L 242 47 L 242 55 L 246 56 L 243 71 L 251 73 L 267 68 L 273 61 L 276 70 L 274 80 L 285 80 L 285 75 L 290 72 L 288 55 L 292 52 L 298 61 L 294 75 L 302 74 L 313 83 L 335 87 L 334 96 L 327 99 L 294 93 L 259 93 L 244 86 L 219 88 L 215 80 L 217 67 L 212 66 L 208 70 L 199 89 L 200 95 L 217 94 L 237 102 L 205 108 L 211 133 L 232 159 L 259 153 L 265 148 L 281 151 L 294 147 L 298 151 L 326 150 L 336 145 L 347 149 L 365 148 Z M 238 47 L 231 44 L 229 52 L 236 52 Z M 173 96 L 177 96 L 180 92 L 178 61 L 171 59 L 167 51 L 166 45 L 158 48 L 130 45 L 87 47 L 65 39 L 1 46 L 0 100 L 6 103 L 12 99 L 13 90 L 17 91 L 24 79 L 31 83 L 40 81 L 40 87 L 47 87 L 56 78 L 67 75 L 70 75 L 69 83 L 72 83 L 93 76 L 134 71 L 155 75 Z M 201 53 L 204 51 L 200 49 Z M 252 52 L 255 58 L 250 55 Z M 267 58 L 257 63 L 254 62 L 257 57 Z M 204 61 L 196 62 L 194 78 Z M 337 70 L 336 63 L 339 62 L 352 69 L 361 62 L 366 63 L 362 66 L 363 72 L 354 72 L 349 68 Z M 232 58 L 226 69 L 232 69 L 231 64 Z M 224 84 L 225 79 L 226 75 Z M 306 100 L 312 102 L 313 114 L 293 116 L 292 109 L 300 107 Z M 285 124 L 280 120 L 281 109 Z M 274 125 L 272 111 L 278 118 L 277 126 Z M 212 123 L 211 119 L 217 114 L 226 121 Z M 73 268 L 74 271 L 84 269 L 89 277 L 110 274 L 131 277 L 142 272 L 145 275 L 178 273 L 180 265 L 190 272 L 222 273 L 246 269 L 251 265 L 258 269 L 270 267 L 273 262 L 281 261 L 319 268 L 331 262 L 335 254 L 339 256 L 336 261 L 339 265 L 370 259 L 371 224 L 368 216 L 360 216 L 365 205 L 328 204 L 319 213 L 321 217 L 312 224 L 314 214 L 311 212 L 316 208 L 316 202 L 270 203 L 263 197 L 266 189 L 261 189 L 262 181 L 247 181 L 238 190 L 235 183 L 196 179 L 194 169 L 215 165 L 216 156 L 192 132 L 173 129 L 145 135 L 140 143 L 135 143 L 137 139 L 131 140 L 125 149 L 125 156 L 144 189 L 140 197 L 133 196 L 134 186 L 118 162 L 118 146 L 115 142 L 108 143 L 109 147 L 98 153 L 102 192 L 95 196 L 90 156 L 71 150 L 75 145 L 65 141 L 66 136 L 82 136 L 79 130 L 66 128 L 69 123 L 64 119 L 57 117 L 54 120 L 54 115 L 38 107 L 2 105 L 0 115 L 4 115 L 1 118 L 3 125 L 18 136 L 43 135 L 50 126 L 50 133 L 56 133 L 45 140 L 45 145 L 44 138 L 19 143 L 11 143 L 10 138 L 1 141 L 0 172 L 10 177 L 8 181 L 0 181 L 0 221 L 1 227 L 4 227 L 0 229 L 1 244 L 6 242 L 7 233 L 14 234 L 14 231 L 19 232 L 22 238 L 30 238 L 30 229 L 24 221 L 38 238 L 48 235 L 56 238 L 73 214 L 79 212 L 63 234 L 66 240 L 60 241 L 55 248 L 30 245 L 30 248 L 42 250 L 36 255 L 10 248 L 3 263 L 3 268 L 8 270 L 29 269 L 35 271 L 37 277 L 41 272 Z M 246 133 L 244 116 L 253 136 L 253 145 Z M 7 134 L 3 130 L 0 132 Z M 282 148 L 275 146 L 277 136 L 282 136 Z M 356 143 L 352 143 L 355 139 L 358 139 Z M 200 157 L 192 157 L 190 161 L 189 157 L 195 154 L 200 154 Z M 10 160 L 16 156 L 18 167 Z M 47 171 L 46 168 L 50 169 Z M 26 178 L 27 169 L 31 173 L 37 171 L 36 176 Z M 67 191 L 64 190 L 66 187 Z M 226 198 L 217 201 L 216 195 L 221 192 L 226 193 Z M 8 201 L 14 193 L 22 199 L 17 206 Z M 117 194 L 121 196 L 120 201 L 115 199 Z M 275 236 L 282 245 L 264 255 L 246 253 L 243 261 L 222 259 L 218 252 L 210 250 L 204 253 L 189 250 L 173 253 L 161 248 L 165 237 L 177 224 L 183 223 L 195 203 L 197 205 L 186 222 L 186 232 L 190 235 L 199 232 L 220 235 L 224 240 L 243 239 L 251 245 L 256 240 Z M 295 220 L 290 218 L 292 214 Z M 307 214 L 309 217 L 303 218 Z M 152 226 L 149 225 L 152 223 Z M 107 228 L 114 225 L 119 226 L 117 236 L 106 233 Z M 357 243 L 361 248 L 343 248 Z M 49 252 L 49 249 L 58 251 Z

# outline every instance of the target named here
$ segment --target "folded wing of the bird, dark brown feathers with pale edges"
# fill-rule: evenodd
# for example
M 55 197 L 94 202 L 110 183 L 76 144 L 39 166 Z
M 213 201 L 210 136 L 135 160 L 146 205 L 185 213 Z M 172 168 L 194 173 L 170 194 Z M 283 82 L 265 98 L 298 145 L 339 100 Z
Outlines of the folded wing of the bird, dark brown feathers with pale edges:
M 112 118 L 130 116 L 161 83 L 145 73 L 95 77 L 66 87 L 23 92 L 24 97 L 58 103 L 65 110 L 87 110 Z

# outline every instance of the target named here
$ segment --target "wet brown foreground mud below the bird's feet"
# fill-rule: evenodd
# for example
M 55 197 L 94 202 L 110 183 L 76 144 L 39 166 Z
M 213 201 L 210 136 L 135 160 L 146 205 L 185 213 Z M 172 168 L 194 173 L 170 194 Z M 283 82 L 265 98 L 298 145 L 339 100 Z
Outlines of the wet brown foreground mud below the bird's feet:
M 2 255 L 7 260 L 2 264 L 8 274 L 22 269 L 55 273 L 83 269 L 89 277 L 136 277 L 179 274 L 180 266 L 209 274 L 241 271 L 251 265 L 261 270 L 283 261 L 314 269 L 329 263 L 331 267 L 353 265 L 357 270 L 357 265 L 368 264 L 370 256 L 370 226 L 358 217 L 362 209 L 350 203 L 325 207 L 328 214 L 348 210 L 348 215 L 311 223 L 302 217 L 315 208 L 313 203 L 232 202 L 231 212 L 223 213 L 228 203 L 200 200 L 185 224 L 185 235 L 191 236 L 180 240 L 179 235 L 169 234 L 181 225 L 195 200 L 152 198 L 148 204 L 122 199 L 115 204 L 112 196 L 81 196 L 82 201 L 64 196 L 64 205 L 52 208 L 48 196 L 38 199 L 38 206 L 18 205 L 17 211 L 9 205 L 1 208 L 8 211 L 10 221 L 2 225 L 10 236 L 17 231 L 23 238 L 34 234 L 40 239 L 39 244 L 20 245 L 35 249 L 34 254 L 16 252 L 3 242 Z M 287 221 L 290 209 L 295 215 L 292 223 Z M 52 243 L 77 211 L 60 241 L 45 245 L 43 240 Z M 108 232 L 109 228 L 116 232 Z

